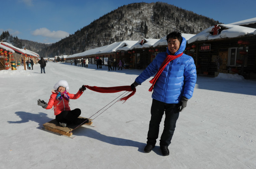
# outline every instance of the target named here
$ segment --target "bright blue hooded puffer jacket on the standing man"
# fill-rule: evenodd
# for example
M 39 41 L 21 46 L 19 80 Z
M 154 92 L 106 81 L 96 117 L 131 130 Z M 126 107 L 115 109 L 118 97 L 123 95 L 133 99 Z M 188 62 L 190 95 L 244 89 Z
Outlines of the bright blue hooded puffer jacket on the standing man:
M 186 39 L 183 38 L 180 49 L 174 54 L 183 53 L 186 47 Z M 170 51 L 167 48 L 167 53 Z M 153 76 L 166 58 L 166 52 L 159 53 L 147 68 L 135 79 L 139 84 Z M 178 104 L 182 96 L 190 99 L 196 84 L 196 66 L 194 59 L 186 54 L 172 60 L 167 64 L 158 77 L 152 98 L 168 104 Z

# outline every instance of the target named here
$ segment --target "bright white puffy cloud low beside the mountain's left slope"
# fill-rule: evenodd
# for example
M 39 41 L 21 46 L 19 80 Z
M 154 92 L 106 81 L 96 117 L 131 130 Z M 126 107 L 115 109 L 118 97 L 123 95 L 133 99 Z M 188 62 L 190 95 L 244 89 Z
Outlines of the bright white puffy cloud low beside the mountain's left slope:
M 46 27 L 42 27 L 40 29 L 34 30 L 32 32 L 32 35 L 60 39 L 60 38 L 68 37 L 69 33 L 65 31 L 50 31 Z

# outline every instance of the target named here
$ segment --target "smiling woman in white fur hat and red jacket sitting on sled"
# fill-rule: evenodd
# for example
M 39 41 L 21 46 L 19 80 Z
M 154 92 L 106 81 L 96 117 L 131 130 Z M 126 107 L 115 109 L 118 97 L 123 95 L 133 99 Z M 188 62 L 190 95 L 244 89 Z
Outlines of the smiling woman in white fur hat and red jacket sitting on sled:
M 54 107 L 54 115 L 56 121 L 60 126 L 66 127 L 69 124 L 82 124 L 88 123 L 89 120 L 86 118 L 78 118 L 81 114 L 80 109 L 71 110 L 69 107 L 69 99 L 79 98 L 86 87 L 83 85 L 76 94 L 68 93 L 69 85 L 65 80 L 58 81 L 52 90 L 52 95 L 48 101 L 48 104 L 44 100 L 38 100 L 37 104 L 42 106 L 44 109 L 51 109 Z

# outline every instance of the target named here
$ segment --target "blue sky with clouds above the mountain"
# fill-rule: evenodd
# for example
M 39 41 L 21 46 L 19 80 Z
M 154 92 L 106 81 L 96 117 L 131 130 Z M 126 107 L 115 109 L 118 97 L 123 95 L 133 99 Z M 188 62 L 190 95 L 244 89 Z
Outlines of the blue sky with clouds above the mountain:
M 54 43 L 116 8 L 153 0 L 4 0 L 0 33 L 9 31 L 20 39 Z M 228 24 L 256 17 L 255 0 L 162 0 Z

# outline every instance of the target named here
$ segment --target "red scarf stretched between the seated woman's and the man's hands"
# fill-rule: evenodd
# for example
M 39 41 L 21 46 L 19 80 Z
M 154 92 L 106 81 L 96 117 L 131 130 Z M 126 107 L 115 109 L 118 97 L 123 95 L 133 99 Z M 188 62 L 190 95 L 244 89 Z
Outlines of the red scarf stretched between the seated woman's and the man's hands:
M 126 101 L 128 98 L 133 96 L 136 92 L 136 89 L 132 90 L 131 86 L 116 86 L 116 87 L 97 87 L 97 86 L 87 86 L 84 85 L 87 89 L 90 89 L 95 92 L 100 92 L 100 93 L 116 93 L 116 92 L 121 92 L 121 91 L 128 91 L 131 92 L 128 96 L 120 98 L 121 101 Z

